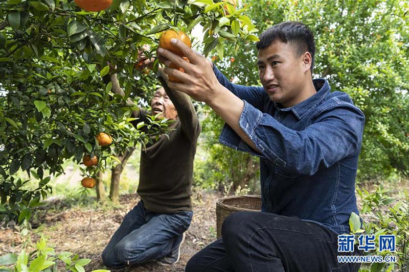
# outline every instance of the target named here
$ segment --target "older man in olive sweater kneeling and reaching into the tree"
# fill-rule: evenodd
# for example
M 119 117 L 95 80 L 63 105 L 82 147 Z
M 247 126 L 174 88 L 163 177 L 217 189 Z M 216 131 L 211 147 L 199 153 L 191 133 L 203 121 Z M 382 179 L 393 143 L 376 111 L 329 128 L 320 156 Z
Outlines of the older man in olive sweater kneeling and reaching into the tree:
M 116 74 L 112 91 L 124 95 Z M 119 268 L 157 260 L 172 265 L 179 260 L 180 245 L 192 220 L 193 160 L 200 124 L 188 95 L 165 84 L 154 92 L 151 112 L 133 112 L 136 125 L 147 114 L 174 120 L 169 138 L 162 135 L 141 151 L 138 194 L 141 201 L 125 215 L 102 253 L 106 266 Z

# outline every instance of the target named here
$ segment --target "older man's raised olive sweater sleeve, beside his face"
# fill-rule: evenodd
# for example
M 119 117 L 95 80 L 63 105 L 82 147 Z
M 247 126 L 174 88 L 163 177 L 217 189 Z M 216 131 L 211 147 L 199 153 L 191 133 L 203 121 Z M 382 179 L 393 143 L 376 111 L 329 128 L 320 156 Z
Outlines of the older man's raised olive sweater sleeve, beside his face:
M 168 87 L 166 81 L 159 77 L 166 93 L 176 108 L 177 116 L 179 117 L 181 129 L 186 138 L 194 142 L 199 137 L 201 128 L 199 119 L 189 95 L 186 93 L 173 90 Z

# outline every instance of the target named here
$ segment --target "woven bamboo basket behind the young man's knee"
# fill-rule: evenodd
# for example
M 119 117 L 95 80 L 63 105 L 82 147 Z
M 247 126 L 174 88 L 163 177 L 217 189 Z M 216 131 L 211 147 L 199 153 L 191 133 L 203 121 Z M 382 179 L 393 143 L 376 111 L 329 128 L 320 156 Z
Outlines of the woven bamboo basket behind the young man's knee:
M 221 225 L 224 219 L 234 212 L 261 211 L 261 195 L 233 195 L 222 197 L 216 202 L 217 239 L 221 237 Z

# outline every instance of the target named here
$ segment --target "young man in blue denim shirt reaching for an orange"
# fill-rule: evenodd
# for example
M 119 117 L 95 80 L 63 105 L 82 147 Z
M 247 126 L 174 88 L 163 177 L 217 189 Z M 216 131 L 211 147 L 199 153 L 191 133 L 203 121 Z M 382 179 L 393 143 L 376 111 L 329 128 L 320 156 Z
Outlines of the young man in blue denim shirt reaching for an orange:
M 263 87 L 232 84 L 174 41 L 190 63 L 158 48 L 165 65 L 186 71 L 166 67 L 184 82 L 169 87 L 208 104 L 226 122 L 220 142 L 259 156 L 261 170 L 262 212 L 226 218 L 222 239 L 193 256 L 186 271 L 357 271 L 359 264 L 337 261 L 337 235 L 350 232 L 349 217 L 358 213 L 355 176 L 365 117 L 346 93 L 312 80 L 312 33 L 302 23 L 283 22 L 260 36 Z

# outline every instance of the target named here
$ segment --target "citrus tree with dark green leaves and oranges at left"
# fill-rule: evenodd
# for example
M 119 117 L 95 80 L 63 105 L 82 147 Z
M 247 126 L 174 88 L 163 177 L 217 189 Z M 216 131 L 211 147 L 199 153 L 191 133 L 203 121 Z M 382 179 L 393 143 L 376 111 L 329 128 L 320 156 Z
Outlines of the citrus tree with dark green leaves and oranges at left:
M 190 33 L 197 24 L 202 41 L 193 44 L 200 43 L 205 55 L 223 50 L 226 40 L 257 40 L 245 9 L 234 3 L 114 0 L 92 12 L 75 2 L 0 0 L 0 221 L 29 219 L 65 160 L 97 156 L 98 164 L 84 168 L 93 177 L 116 160 L 112 154 L 166 129 L 166 120 L 154 116 L 137 128 L 130 123 L 137 108 L 127 99 L 146 97 L 157 84 L 153 71 L 137 69 L 142 45 L 151 45 L 145 52 L 150 57 L 161 32 Z M 105 8 L 106 1 L 89 2 Z M 111 92 L 108 61 L 118 66 L 124 97 Z M 101 146 L 100 132 L 112 143 Z M 27 180 L 16 178 L 19 170 L 38 186 L 27 188 Z

